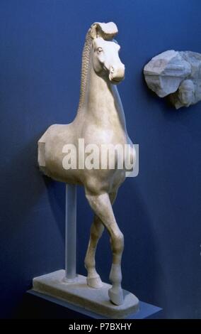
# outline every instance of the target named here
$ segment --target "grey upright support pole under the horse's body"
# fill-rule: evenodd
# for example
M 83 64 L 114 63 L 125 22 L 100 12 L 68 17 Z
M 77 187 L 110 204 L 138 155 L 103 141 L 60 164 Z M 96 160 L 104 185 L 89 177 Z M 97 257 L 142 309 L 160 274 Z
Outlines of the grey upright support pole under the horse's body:
M 76 185 L 66 185 L 66 281 L 76 279 Z

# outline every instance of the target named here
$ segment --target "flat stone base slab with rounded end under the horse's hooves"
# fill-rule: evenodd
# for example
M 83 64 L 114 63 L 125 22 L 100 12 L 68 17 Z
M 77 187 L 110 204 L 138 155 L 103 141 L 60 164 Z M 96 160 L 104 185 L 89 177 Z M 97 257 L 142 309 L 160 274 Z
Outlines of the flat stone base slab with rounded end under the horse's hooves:
M 96 312 L 108 318 L 125 318 L 130 313 L 137 312 L 139 300 L 134 294 L 123 290 L 125 301 L 116 306 L 108 300 L 110 284 L 103 283 L 100 289 L 90 288 L 86 284 L 86 277 L 78 275 L 76 281 L 67 283 L 65 271 L 58 270 L 33 279 L 33 290 L 47 296 L 60 298 L 76 306 Z

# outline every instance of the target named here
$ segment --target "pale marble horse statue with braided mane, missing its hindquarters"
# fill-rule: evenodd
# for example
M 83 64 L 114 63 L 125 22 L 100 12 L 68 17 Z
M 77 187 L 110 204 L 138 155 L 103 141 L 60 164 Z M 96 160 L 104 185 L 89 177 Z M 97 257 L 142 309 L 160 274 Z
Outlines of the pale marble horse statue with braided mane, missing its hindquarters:
M 38 141 L 38 163 L 43 173 L 54 180 L 84 185 L 86 198 L 94 212 L 84 262 L 88 273 L 87 284 L 96 289 L 102 286 L 96 271 L 95 253 L 105 227 L 113 252 L 110 270 L 112 287 L 108 295 L 115 305 L 121 305 L 124 237 L 115 220 L 112 205 L 118 188 L 125 180 L 125 168 L 65 170 L 62 167 L 62 148 L 67 143 L 78 146 L 80 138 L 84 139 L 85 145 L 132 144 L 116 86 L 125 77 L 125 65 L 119 58 L 120 45 L 113 39 L 116 33 L 117 26 L 112 22 L 93 23 L 88 30 L 82 54 L 81 92 L 76 117 L 71 124 L 54 124 L 45 131 Z M 134 160 L 135 153 L 131 152 Z

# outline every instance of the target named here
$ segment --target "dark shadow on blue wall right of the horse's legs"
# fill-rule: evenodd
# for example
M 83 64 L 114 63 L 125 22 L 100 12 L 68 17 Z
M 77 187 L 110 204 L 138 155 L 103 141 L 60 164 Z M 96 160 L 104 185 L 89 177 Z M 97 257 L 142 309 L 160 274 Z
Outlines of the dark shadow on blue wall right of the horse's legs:
M 127 196 L 132 198 L 132 208 L 131 202 L 123 199 Z M 122 202 L 124 210 L 120 212 L 117 208 L 120 208 Z M 125 235 L 122 259 L 124 288 L 136 293 L 142 301 L 157 303 L 154 291 L 159 289 L 158 281 L 161 275 L 157 239 L 137 180 L 128 178 L 125 185 L 122 185 L 114 211 L 120 229 Z M 124 259 L 130 259 L 130 261 Z M 130 274 L 126 275 L 126 273 Z

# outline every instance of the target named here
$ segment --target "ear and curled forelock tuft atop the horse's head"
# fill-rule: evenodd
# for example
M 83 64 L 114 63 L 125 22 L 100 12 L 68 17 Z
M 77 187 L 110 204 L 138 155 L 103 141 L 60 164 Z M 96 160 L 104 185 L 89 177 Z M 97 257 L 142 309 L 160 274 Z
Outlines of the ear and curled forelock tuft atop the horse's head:
M 91 26 L 91 38 L 102 37 L 106 41 L 113 40 L 114 36 L 117 34 L 118 29 L 115 23 L 93 23 Z

